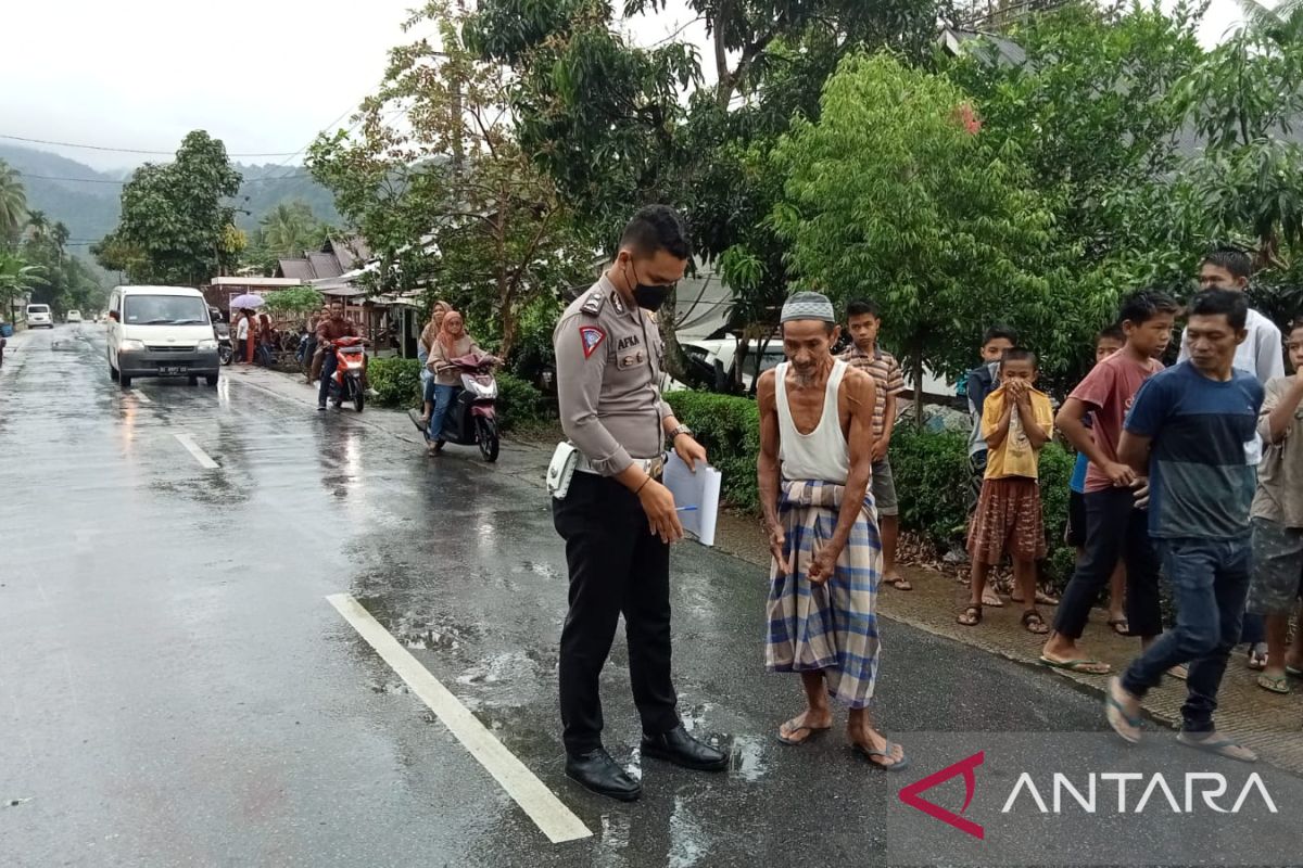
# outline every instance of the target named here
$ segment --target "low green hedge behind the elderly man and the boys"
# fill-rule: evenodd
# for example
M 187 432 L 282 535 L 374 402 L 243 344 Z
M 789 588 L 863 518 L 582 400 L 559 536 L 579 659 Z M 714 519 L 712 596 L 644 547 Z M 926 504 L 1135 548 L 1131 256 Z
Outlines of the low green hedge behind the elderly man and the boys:
M 756 459 L 760 454 L 760 411 L 751 398 L 709 392 L 671 392 L 666 401 L 675 415 L 697 435 L 710 463 L 723 474 L 728 504 L 760 513 Z M 1058 442 L 1041 450 L 1041 502 L 1049 557 L 1044 578 L 1061 588 L 1072 574 L 1075 553 L 1063 544 L 1067 524 L 1068 480 L 1074 455 Z M 947 431 L 930 433 L 912 424 L 896 426 L 891 435 L 891 471 L 900 501 L 900 526 L 929 537 L 945 550 L 962 544 L 968 515 L 968 437 Z

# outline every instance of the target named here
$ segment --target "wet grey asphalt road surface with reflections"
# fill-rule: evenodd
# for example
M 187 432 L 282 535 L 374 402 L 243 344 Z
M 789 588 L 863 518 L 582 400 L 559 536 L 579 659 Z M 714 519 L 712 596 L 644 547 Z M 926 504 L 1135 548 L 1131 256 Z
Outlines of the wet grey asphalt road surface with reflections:
M 838 731 L 779 746 L 800 700 L 764 673 L 765 576 L 684 544 L 681 713 L 732 769 L 649 764 L 640 803 L 592 796 L 562 774 L 566 574 L 536 480 L 470 450 L 427 459 L 238 377 L 124 393 L 98 325 L 14 344 L 0 372 L 0 865 L 887 864 L 908 850 L 889 839 L 898 789 L 956 759 L 916 752 L 917 770 L 889 776 Z M 593 837 L 549 843 L 331 608 L 340 592 Z M 1097 701 L 1050 673 L 890 622 L 883 643 L 877 714 L 907 748 L 919 731 L 1104 729 Z M 606 742 L 638 766 L 625 664 L 618 639 Z M 1111 739 L 1076 750 L 1117 764 Z M 1105 832 L 1119 829 L 1067 833 L 1045 863 L 1100 861 Z M 1148 861 L 1187 834 L 1145 832 Z M 942 860 L 975 864 L 969 839 L 949 841 Z M 1273 842 L 1278 864 L 1299 861 L 1298 841 Z M 1227 846 L 1209 843 L 1209 864 L 1233 863 Z

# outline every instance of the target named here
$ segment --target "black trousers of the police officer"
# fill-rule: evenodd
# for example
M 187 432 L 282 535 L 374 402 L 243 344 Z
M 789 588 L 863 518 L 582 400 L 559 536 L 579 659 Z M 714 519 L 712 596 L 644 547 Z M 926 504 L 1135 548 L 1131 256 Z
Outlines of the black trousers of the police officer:
M 670 547 L 648 530 L 638 498 L 614 479 L 576 472 L 552 523 L 566 540 L 569 612 L 562 629 L 566 751 L 602 744 L 598 683 L 624 613 L 633 701 L 649 735 L 679 725 L 670 677 Z

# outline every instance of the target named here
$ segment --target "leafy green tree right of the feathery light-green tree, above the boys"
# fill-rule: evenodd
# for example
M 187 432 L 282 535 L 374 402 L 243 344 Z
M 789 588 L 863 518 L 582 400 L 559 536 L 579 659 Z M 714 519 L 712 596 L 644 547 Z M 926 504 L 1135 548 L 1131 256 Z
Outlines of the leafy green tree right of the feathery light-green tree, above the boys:
M 973 40 L 942 65 L 972 96 L 981 137 L 1022 155 L 1054 211 L 1054 259 L 1070 280 L 1052 282 L 1065 315 L 1036 334 L 1036 349 L 1063 381 L 1093 362 L 1093 334 L 1111 321 L 1121 294 L 1188 286 L 1199 221 L 1186 210 L 1183 117 L 1171 94 L 1204 56 L 1197 27 L 1181 5 L 1167 14 L 1072 3 L 1009 29 L 1020 62 L 992 40 Z

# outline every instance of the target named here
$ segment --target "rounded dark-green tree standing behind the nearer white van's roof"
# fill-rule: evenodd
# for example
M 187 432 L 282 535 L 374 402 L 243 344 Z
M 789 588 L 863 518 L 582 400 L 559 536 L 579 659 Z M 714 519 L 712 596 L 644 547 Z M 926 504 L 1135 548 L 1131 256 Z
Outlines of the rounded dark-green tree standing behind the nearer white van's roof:
M 141 282 L 198 285 L 236 262 L 228 232 L 240 189 L 220 139 L 194 130 L 169 164 L 146 163 L 122 187 L 117 229 L 93 249 L 100 264 Z M 130 251 L 128 255 L 126 251 Z

